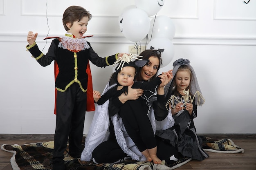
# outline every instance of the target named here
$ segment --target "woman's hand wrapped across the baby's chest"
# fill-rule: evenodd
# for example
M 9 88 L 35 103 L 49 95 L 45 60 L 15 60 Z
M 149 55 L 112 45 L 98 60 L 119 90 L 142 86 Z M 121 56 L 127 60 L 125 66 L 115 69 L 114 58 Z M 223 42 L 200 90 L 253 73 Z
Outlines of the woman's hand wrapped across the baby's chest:
M 132 84 L 133 85 L 133 84 Z M 127 100 L 136 100 L 138 99 L 142 94 L 143 94 L 143 90 L 140 88 L 132 88 L 132 85 L 128 86 L 128 94 L 125 95 L 124 93 L 122 93 L 118 98 L 120 100 L 120 102 L 122 102 L 123 104 L 127 101 Z

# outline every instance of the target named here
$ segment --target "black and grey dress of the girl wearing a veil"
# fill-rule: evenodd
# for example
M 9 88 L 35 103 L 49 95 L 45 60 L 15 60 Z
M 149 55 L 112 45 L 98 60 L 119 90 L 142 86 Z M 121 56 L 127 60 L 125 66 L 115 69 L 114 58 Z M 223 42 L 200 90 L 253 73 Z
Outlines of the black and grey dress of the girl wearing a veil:
M 181 99 L 182 95 L 176 96 Z M 178 102 L 175 101 L 175 105 Z M 162 109 L 161 109 L 162 108 Z M 155 108 L 155 113 L 161 117 L 165 116 L 164 104 Z M 180 112 L 173 115 L 175 125 L 166 130 L 156 131 L 156 135 L 169 144 L 175 146 L 177 151 L 184 157 L 191 157 L 192 159 L 204 160 L 209 155 L 202 149 L 202 140 L 196 134 L 196 129 L 193 119 L 197 117 L 197 105 L 193 102 L 193 113 L 189 114 L 187 110 L 180 110 Z

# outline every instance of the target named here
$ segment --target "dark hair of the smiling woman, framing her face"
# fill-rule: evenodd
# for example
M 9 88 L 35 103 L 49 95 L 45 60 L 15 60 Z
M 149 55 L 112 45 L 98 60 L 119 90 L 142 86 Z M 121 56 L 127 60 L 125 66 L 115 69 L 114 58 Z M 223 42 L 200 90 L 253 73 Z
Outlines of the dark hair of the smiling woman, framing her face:
M 140 56 L 143 56 L 141 58 L 143 60 L 148 60 L 149 57 L 157 57 L 159 60 L 159 67 L 157 68 L 157 71 L 160 69 L 160 66 L 162 65 L 162 58 L 161 58 L 161 52 L 159 50 L 145 50 L 140 53 Z M 137 73 L 141 73 L 141 69 L 142 67 L 138 68 Z M 154 79 L 155 77 L 157 77 L 157 73 L 151 79 Z M 143 81 L 143 79 L 141 79 L 141 74 L 137 74 L 135 79 L 137 81 Z

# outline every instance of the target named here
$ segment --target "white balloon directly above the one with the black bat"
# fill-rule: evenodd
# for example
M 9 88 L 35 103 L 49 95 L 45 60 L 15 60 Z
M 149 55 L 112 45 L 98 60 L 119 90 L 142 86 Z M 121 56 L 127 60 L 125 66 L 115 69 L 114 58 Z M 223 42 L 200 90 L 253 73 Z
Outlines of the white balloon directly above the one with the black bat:
M 173 39 L 175 35 L 175 25 L 171 18 L 165 15 L 159 15 L 150 21 L 150 29 L 148 31 L 149 40 L 154 38 Z

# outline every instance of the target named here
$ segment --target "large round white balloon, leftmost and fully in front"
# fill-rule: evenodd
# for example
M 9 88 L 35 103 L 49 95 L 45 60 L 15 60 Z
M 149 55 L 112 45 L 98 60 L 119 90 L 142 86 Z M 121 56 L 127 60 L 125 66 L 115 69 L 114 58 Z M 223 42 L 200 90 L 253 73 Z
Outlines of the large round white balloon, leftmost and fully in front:
M 121 15 L 120 29 L 132 42 L 143 40 L 148 34 L 150 19 L 142 9 L 128 9 Z

